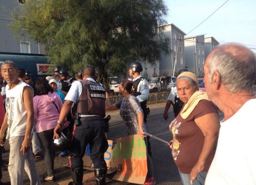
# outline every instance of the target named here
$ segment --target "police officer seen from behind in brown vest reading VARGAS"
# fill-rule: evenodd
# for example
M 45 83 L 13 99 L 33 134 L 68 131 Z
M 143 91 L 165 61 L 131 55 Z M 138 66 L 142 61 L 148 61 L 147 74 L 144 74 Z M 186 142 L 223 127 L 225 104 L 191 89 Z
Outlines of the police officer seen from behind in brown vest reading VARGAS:
M 104 153 L 108 148 L 105 138 L 105 88 L 95 79 L 95 69 L 86 67 L 82 81 L 74 81 L 67 93 L 59 115 L 54 137 L 58 138 L 62 124 L 74 104 L 74 135 L 71 144 L 71 177 L 73 185 L 82 185 L 83 161 L 87 143 L 90 145 L 90 158 L 93 161 L 97 185 L 105 185 L 107 165 Z

